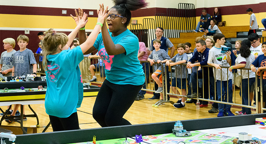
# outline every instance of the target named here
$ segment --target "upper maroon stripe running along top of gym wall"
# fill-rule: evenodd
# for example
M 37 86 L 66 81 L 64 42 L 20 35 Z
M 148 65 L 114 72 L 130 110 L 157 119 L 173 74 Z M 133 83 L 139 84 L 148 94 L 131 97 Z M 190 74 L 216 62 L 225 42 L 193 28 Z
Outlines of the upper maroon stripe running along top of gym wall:
M 266 12 L 266 3 L 250 4 L 250 5 L 234 5 L 219 7 L 221 15 L 233 15 L 233 14 L 247 14 L 247 8 L 252 8 L 254 13 Z M 213 15 L 214 7 L 197 8 L 196 16 L 201 15 L 201 11 L 205 9 L 208 14 Z M 66 14 L 62 14 L 62 10 L 67 10 Z M 87 14 L 89 11 L 93 11 L 93 16 L 98 17 L 97 10 L 83 9 Z M 155 16 L 156 13 L 167 13 L 167 8 L 153 7 L 147 9 L 139 9 L 132 11 L 132 17 L 143 16 Z M 25 6 L 8 6 L 0 5 L 0 14 L 23 14 L 23 15 L 42 15 L 42 16 L 69 16 L 70 14 L 75 16 L 74 9 L 69 8 L 51 8 L 51 7 L 25 7 Z

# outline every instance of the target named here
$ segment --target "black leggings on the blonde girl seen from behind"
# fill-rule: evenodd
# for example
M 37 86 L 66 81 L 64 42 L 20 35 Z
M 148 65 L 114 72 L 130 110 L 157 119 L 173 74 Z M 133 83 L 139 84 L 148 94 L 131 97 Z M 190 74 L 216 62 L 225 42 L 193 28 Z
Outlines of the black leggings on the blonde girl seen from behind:
M 78 130 L 80 128 L 77 112 L 72 113 L 67 118 L 58 118 L 52 115 L 49 115 L 49 118 L 54 132 L 62 130 Z

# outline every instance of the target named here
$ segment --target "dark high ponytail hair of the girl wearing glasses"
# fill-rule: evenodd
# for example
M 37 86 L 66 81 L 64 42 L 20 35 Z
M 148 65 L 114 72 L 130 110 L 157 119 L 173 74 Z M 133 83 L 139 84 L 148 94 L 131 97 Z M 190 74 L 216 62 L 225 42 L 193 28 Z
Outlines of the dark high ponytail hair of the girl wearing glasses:
M 112 0 L 114 3 L 114 6 L 112 8 L 115 8 L 121 16 L 127 18 L 127 21 L 125 22 L 125 26 L 128 26 L 131 19 L 131 12 L 134 10 L 138 10 L 143 7 L 147 7 L 149 3 L 147 3 L 145 0 Z

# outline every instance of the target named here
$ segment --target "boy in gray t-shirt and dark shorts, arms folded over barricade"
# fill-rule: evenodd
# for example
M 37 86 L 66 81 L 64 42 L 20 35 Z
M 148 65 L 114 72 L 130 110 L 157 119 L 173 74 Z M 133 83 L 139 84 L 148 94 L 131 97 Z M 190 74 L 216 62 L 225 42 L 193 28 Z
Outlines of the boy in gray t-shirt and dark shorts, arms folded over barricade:
M 180 94 L 178 90 L 176 90 L 176 86 L 181 89 L 182 95 L 186 95 L 186 77 L 188 76 L 188 71 L 185 65 L 180 65 L 182 63 L 187 62 L 187 54 L 185 54 L 186 46 L 184 43 L 180 43 L 177 45 L 177 52 L 171 60 L 167 60 L 166 65 L 175 66 L 176 78 L 172 81 L 172 90 L 175 94 Z M 175 108 L 181 108 L 185 106 L 185 97 L 178 96 L 178 101 L 173 104 Z

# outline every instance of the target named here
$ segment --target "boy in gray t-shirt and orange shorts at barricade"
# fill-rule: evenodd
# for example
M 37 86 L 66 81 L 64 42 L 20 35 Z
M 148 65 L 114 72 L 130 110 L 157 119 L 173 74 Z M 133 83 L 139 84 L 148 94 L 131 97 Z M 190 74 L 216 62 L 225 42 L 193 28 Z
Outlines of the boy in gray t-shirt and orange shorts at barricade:
M 158 90 L 155 93 L 160 93 L 160 100 L 162 100 L 162 71 L 165 70 L 165 62 L 170 59 L 170 56 L 166 53 L 165 50 L 160 49 L 161 41 L 155 39 L 153 41 L 153 46 L 155 50 L 148 57 L 148 61 L 153 65 L 156 61 L 158 64 L 154 65 L 154 73 L 152 74 L 152 79 L 158 84 Z M 160 62 L 163 63 L 163 69 L 160 65 Z

